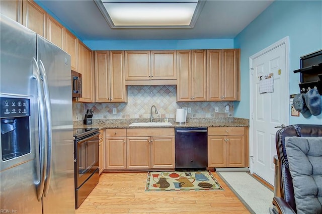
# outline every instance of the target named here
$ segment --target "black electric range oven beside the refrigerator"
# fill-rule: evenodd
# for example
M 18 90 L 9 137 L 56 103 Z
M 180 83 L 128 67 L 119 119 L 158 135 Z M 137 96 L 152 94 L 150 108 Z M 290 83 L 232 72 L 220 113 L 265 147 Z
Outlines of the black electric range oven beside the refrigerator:
M 73 129 L 75 205 L 78 208 L 99 182 L 99 129 Z

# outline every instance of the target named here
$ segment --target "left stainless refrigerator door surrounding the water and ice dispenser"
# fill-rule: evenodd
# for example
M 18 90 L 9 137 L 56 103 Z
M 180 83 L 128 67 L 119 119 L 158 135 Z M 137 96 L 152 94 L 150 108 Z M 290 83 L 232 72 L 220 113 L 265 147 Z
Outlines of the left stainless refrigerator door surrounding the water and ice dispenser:
M 36 59 L 36 34 L 0 14 L 0 96 L 30 99 L 30 153 L 3 161 L 0 154 L 0 209 L 41 213 L 37 199 L 39 175 L 38 105 L 32 77 Z M 0 125 L 1 126 L 1 125 Z M 1 127 L 0 127 L 1 128 Z M 2 153 L 0 138 L 0 153 Z M 13 211 L 14 210 L 14 211 Z

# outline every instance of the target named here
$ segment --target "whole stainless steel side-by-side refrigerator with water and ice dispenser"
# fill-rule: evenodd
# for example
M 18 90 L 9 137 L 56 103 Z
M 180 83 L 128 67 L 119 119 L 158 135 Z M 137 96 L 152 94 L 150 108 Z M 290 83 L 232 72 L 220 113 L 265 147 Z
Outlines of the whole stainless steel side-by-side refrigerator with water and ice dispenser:
M 70 56 L 0 18 L 0 209 L 74 213 Z

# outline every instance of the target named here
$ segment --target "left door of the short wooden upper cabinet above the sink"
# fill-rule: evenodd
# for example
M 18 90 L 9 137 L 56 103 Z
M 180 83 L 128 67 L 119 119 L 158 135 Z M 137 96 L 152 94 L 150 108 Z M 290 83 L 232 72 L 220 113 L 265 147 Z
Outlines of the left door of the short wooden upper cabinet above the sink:
M 151 79 L 150 51 L 125 51 L 125 79 Z

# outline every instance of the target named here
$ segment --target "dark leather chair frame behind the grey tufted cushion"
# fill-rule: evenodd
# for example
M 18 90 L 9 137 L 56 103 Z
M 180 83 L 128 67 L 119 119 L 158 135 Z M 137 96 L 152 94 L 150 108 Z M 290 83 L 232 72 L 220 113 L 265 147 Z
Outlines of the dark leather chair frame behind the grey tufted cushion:
M 297 213 L 294 198 L 293 181 L 289 171 L 289 165 L 285 150 L 285 137 L 322 137 L 322 125 L 291 125 L 284 127 L 276 133 L 276 150 L 278 156 L 279 188 L 280 195 L 274 195 L 274 211 L 278 213 Z M 274 191 L 276 192 L 276 191 Z

